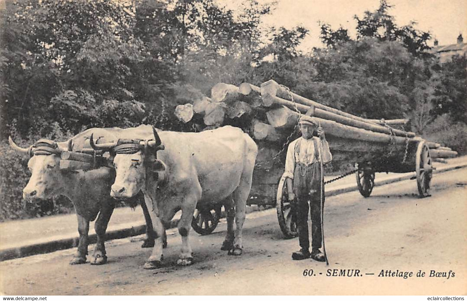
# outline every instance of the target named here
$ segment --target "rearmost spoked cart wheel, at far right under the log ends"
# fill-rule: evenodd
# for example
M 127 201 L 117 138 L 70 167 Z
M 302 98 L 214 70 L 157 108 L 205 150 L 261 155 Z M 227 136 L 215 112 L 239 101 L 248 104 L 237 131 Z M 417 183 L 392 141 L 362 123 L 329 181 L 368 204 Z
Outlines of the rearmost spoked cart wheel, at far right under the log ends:
M 430 150 L 424 141 L 418 144 L 415 156 L 418 194 L 420 198 L 425 198 L 430 196 L 430 182 L 432 180 L 433 166 Z

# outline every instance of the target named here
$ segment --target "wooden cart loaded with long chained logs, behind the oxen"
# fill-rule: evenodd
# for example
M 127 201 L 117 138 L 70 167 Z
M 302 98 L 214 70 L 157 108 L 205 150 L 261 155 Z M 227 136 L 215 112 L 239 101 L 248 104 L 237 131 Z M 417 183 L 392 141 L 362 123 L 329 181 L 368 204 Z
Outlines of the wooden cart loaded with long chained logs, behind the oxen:
M 284 150 L 299 137 L 297 122 L 302 115 L 313 116 L 325 130 L 333 162 L 355 164 L 355 169 L 346 175 L 355 173 L 363 197 L 370 196 L 375 173 L 382 171 L 415 171 L 419 196 L 426 197 L 432 178 L 432 160 L 457 155 L 447 147 L 405 131 L 403 126 L 408 120 L 354 116 L 297 95 L 273 80 L 262 83 L 261 87 L 249 83 L 239 87 L 218 83 L 212 87 L 211 94 L 211 98 L 203 96 L 192 104 L 179 105 L 175 115 L 196 130 L 230 124 L 250 134 L 259 152 L 247 205 L 276 205 L 279 226 L 286 238 L 295 237 L 297 231 L 283 177 Z M 211 233 L 220 217 L 221 205 L 198 208 L 192 227 L 200 234 Z

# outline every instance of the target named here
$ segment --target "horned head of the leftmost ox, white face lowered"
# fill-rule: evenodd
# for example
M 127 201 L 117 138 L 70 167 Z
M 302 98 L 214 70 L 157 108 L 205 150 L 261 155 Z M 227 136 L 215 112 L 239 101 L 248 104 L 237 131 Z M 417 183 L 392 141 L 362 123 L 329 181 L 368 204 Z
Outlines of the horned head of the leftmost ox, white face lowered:
M 16 145 L 11 137 L 8 137 L 8 142 L 16 152 L 30 157 L 28 169 L 31 171 L 31 178 L 23 189 L 23 198 L 47 199 L 59 194 L 64 172 L 59 166 L 60 154 L 64 150 L 71 149 L 71 139 L 66 147 L 61 147 L 48 139 L 40 139 L 28 148 Z

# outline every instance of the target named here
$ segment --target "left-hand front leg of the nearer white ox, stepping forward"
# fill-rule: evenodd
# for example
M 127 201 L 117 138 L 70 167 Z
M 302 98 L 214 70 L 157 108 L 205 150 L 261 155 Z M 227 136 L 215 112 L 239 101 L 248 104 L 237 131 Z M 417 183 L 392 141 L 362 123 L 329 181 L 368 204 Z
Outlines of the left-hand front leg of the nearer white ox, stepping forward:
M 144 263 L 143 268 L 145 269 L 155 269 L 162 266 L 163 258 L 163 236 L 165 234 L 164 226 L 161 222 L 161 219 L 157 216 L 158 210 L 153 204 L 153 201 L 148 196 L 144 196 L 144 201 L 148 208 L 151 208 L 149 211 L 149 216 L 152 221 L 152 229 L 154 231 L 154 248 L 152 249 L 151 256 Z

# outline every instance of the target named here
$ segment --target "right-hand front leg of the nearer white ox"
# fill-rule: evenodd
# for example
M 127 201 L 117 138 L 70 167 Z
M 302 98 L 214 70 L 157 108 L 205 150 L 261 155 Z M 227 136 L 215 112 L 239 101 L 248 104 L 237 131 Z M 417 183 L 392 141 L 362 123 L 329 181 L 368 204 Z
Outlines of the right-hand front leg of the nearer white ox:
M 191 229 L 191 220 L 193 219 L 196 201 L 185 201 L 185 204 L 189 205 L 182 207 L 182 216 L 178 221 L 178 233 L 182 236 L 182 249 L 180 257 L 177 260 L 177 265 L 179 266 L 189 266 L 193 262 L 193 252 L 191 251 L 190 242 L 188 241 L 188 234 Z

